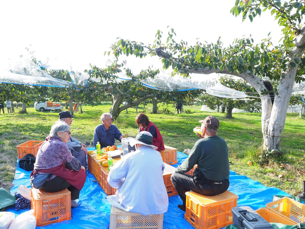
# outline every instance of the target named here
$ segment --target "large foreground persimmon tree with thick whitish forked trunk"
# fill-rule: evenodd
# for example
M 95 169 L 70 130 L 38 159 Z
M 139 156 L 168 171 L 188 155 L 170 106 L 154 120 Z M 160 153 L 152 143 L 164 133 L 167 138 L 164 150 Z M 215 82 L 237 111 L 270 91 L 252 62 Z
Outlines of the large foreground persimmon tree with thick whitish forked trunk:
M 188 45 L 183 40 L 176 42 L 175 32 L 170 29 L 165 43 L 161 41 L 162 32 L 157 31 L 151 45 L 119 39 L 112 46 L 112 53 L 115 57 L 122 54 L 140 58 L 160 56 L 163 68 L 172 67 L 173 74 L 221 73 L 244 79 L 260 96 L 263 148 L 278 150 L 293 84 L 304 80 L 305 4 L 304 0 L 236 0 L 231 9 L 233 15 L 241 14 L 242 20 L 249 18 L 250 21 L 264 11 L 269 11 L 282 28 L 280 45 L 273 45 L 270 38 L 255 44 L 251 37 L 236 38 L 228 47 L 220 39 L 216 43 Z M 263 77 L 269 80 L 264 82 Z M 278 81 L 276 90 L 271 80 Z M 274 92 L 273 101 L 270 92 Z

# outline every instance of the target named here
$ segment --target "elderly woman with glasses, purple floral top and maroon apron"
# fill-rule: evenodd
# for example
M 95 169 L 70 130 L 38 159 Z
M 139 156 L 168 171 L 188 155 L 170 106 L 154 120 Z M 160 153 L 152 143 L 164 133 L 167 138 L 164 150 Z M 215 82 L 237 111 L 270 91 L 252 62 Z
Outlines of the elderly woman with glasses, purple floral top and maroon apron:
M 71 207 L 77 207 L 76 199 L 84 186 L 86 173 L 84 166 L 74 158 L 67 146 L 71 135 L 70 126 L 58 121 L 52 125 L 49 136 L 38 150 L 31 183 L 36 174 L 48 174 L 41 189 L 57 192 L 67 188 L 71 192 Z

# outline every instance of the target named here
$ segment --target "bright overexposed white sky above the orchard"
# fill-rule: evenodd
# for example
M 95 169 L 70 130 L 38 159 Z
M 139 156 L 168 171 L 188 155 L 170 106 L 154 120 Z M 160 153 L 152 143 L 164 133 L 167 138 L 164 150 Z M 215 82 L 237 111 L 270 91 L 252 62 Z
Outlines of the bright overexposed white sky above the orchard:
M 195 44 L 196 38 L 215 43 L 219 36 L 224 44 L 234 38 L 252 35 L 255 43 L 271 31 L 278 43 L 280 27 L 270 12 L 262 12 L 253 23 L 230 14 L 235 0 L 215 1 L 2 1 L 0 9 L 0 55 L 16 57 L 25 47 L 35 51 L 38 60 L 49 57 L 73 66 L 88 68 L 89 63 L 104 67 L 108 56 L 104 51 L 117 37 L 150 44 L 158 29 L 167 26 L 183 39 Z M 149 64 L 162 67 L 159 58 L 145 61 L 127 58 L 136 73 Z

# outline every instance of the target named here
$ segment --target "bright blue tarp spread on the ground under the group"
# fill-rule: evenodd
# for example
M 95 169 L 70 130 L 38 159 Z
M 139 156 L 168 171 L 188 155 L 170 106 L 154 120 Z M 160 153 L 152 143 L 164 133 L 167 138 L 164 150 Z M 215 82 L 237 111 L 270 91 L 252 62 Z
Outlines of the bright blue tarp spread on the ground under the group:
M 90 150 L 90 149 L 89 149 Z M 177 167 L 180 165 L 188 155 L 181 152 L 177 153 L 178 163 L 173 165 Z M 65 220 L 60 223 L 49 224 L 40 228 L 50 229 L 108 229 L 110 222 L 110 204 L 106 200 L 106 194 L 96 183 L 94 175 L 89 171 L 83 189 L 80 192 L 78 206 L 71 208 L 72 219 Z M 30 172 L 27 172 L 19 167 L 17 162 L 16 174 L 13 181 L 11 192 L 16 192 L 20 184 L 30 188 Z M 266 187 L 258 181 L 249 179 L 246 176 L 237 175 L 230 171 L 230 187 L 229 191 L 238 195 L 237 206 L 250 206 L 256 210 L 265 207 L 266 203 L 271 202 L 273 195 L 288 195 L 287 193 L 275 187 Z M 289 195 L 290 196 L 290 195 Z M 148 197 L 149 198 L 149 197 Z M 178 195 L 171 196 L 169 199 L 168 211 L 164 213 L 163 228 L 166 229 L 192 229 L 192 227 L 185 219 L 184 213 L 177 208 L 178 204 L 182 204 Z M 23 209 L 15 211 L 13 207 L 6 208 L 5 211 L 13 212 L 17 215 L 27 211 Z

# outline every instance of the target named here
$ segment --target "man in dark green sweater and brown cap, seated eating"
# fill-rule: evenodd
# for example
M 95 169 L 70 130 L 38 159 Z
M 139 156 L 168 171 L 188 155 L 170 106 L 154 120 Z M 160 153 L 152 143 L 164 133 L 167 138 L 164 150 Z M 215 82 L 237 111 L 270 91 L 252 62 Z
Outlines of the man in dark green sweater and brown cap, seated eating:
M 226 141 L 217 136 L 219 121 L 213 116 L 200 120 L 201 138 L 196 142 L 188 158 L 179 165 L 170 180 L 177 190 L 183 204 L 178 208 L 185 211 L 187 191 L 214 196 L 226 191 L 229 187 L 229 158 Z M 193 176 L 184 174 L 197 164 Z

